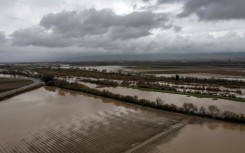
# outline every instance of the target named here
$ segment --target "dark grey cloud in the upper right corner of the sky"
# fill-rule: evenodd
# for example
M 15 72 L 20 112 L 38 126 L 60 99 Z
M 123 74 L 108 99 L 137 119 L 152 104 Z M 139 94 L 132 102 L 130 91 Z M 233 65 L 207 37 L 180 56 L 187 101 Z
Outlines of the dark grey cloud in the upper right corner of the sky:
M 245 19 L 245 0 L 158 0 L 183 3 L 181 17 L 196 14 L 201 20 Z

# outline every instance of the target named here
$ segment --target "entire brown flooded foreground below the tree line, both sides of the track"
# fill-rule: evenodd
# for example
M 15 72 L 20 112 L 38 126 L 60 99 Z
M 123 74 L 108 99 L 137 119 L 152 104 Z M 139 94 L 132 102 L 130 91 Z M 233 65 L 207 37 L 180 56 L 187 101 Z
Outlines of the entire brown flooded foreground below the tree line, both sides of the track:
M 240 153 L 244 129 L 55 87 L 0 102 L 0 153 Z

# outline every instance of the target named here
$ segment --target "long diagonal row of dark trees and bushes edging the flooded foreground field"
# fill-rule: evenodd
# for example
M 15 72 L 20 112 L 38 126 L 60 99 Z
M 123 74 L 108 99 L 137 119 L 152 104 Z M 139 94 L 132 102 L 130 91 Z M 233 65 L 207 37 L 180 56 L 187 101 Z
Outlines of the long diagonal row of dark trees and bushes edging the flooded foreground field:
M 215 105 L 208 106 L 207 109 L 205 107 L 200 107 L 198 109 L 198 107 L 192 103 L 184 103 L 182 107 L 177 107 L 174 104 L 165 104 L 164 101 L 160 98 L 157 98 L 155 101 L 139 99 L 137 96 L 115 94 L 109 92 L 108 90 L 101 91 L 98 89 L 89 88 L 82 84 L 69 83 L 64 80 L 56 80 L 56 79 L 49 80 L 47 82 L 47 85 L 56 86 L 68 90 L 90 93 L 106 98 L 111 98 L 127 103 L 155 108 L 163 111 L 177 112 L 177 113 L 188 114 L 188 115 L 196 115 L 196 116 L 202 116 L 206 118 L 232 121 L 237 123 L 245 123 L 244 114 L 236 114 L 229 111 L 221 112 Z

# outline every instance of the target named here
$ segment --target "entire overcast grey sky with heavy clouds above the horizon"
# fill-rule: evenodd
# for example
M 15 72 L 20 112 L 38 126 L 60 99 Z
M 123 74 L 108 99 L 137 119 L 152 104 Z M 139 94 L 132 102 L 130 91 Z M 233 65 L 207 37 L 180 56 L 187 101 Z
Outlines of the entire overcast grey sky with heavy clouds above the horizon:
M 245 52 L 245 0 L 0 0 L 0 62 L 199 52 Z

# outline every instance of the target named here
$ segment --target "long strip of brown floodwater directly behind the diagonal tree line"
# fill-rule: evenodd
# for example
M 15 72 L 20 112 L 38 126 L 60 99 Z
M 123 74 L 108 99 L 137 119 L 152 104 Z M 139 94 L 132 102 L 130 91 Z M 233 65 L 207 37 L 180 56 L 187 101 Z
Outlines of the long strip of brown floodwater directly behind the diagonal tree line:
M 216 105 L 221 111 L 231 111 L 234 113 L 245 113 L 245 103 L 236 102 L 224 99 L 212 99 L 212 98 L 197 98 L 193 96 L 186 96 L 180 94 L 161 93 L 154 91 L 143 91 L 139 89 L 125 88 L 125 87 L 104 87 L 98 88 L 99 90 L 108 90 L 113 93 L 138 96 L 139 99 L 147 99 L 155 101 L 156 98 L 161 98 L 166 104 L 175 104 L 178 107 L 182 107 L 184 103 L 193 103 L 198 107 L 208 107 L 210 105 Z

